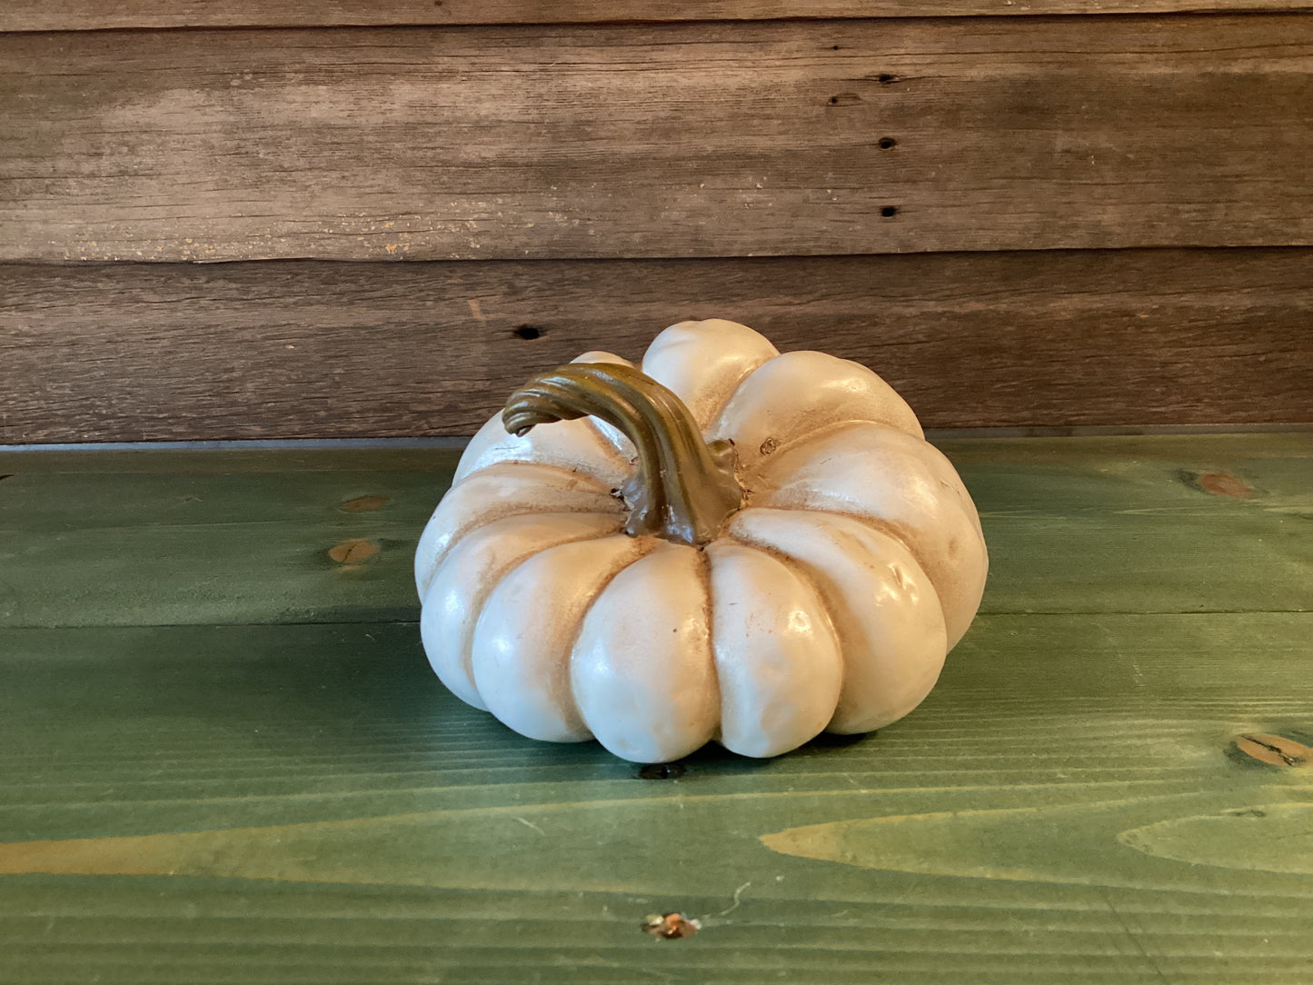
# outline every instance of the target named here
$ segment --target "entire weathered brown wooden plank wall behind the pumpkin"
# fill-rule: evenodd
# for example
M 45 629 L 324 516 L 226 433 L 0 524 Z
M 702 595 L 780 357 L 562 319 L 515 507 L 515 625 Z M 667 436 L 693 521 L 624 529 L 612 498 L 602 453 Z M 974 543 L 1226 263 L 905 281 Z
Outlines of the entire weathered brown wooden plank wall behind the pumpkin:
M 467 435 L 713 315 L 931 427 L 1313 420 L 1313 4 L 382 7 L 5 5 L 0 444 Z

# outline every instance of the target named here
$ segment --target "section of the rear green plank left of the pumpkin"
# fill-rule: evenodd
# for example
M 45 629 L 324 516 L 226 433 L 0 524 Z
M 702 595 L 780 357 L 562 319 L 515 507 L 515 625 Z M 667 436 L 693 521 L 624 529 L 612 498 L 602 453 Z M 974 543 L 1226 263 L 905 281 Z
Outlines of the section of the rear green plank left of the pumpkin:
M 449 483 L 449 470 L 17 473 L 0 482 L 0 624 L 414 619 L 415 542 Z M 334 561 L 352 540 L 378 550 Z

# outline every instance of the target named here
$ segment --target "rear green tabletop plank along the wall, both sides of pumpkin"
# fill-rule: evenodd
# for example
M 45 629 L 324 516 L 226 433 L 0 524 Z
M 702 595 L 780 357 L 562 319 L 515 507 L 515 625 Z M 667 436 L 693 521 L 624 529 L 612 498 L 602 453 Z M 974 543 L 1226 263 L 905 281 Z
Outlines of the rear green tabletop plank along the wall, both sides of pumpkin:
M 1308 433 L 940 447 L 981 512 L 985 612 L 1304 611 L 1313 599 Z M 416 620 L 415 544 L 450 471 L 412 452 L 365 470 L 334 468 L 332 452 L 285 471 L 255 456 L 202 471 L 138 453 L 79 474 L 70 456 L 46 471 L 29 468 L 39 456 L 0 454 L 0 625 Z M 1203 478 L 1222 473 L 1253 495 L 1209 492 Z M 386 502 L 352 510 L 361 496 Z M 377 552 L 331 557 L 355 542 Z

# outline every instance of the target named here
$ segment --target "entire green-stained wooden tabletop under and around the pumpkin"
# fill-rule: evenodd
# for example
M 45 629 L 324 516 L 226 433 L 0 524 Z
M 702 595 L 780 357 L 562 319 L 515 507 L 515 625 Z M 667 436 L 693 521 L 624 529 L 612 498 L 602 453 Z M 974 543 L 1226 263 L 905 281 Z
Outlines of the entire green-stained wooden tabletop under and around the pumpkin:
M 429 671 L 450 452 L 0 454 L 0 982 L 1313 982 L 1313 433 L 940 445 L 934 693 L 664 776 Z

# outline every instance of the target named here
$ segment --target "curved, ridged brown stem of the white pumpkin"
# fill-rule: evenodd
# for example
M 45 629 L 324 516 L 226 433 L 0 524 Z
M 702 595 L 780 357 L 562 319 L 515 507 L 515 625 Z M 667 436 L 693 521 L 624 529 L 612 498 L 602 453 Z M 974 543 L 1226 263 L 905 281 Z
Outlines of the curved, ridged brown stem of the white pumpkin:
M 733 445 L 704 441 L 684 402 L 634 366 L 570 362 L 538 373 L 511 394 L 502 422 L 524 435 L 534 424 L 587 415 L 618 428 L 638 450 L 638 473 L 622 490 L 630 536 L 700 546 L 742 506 Z

